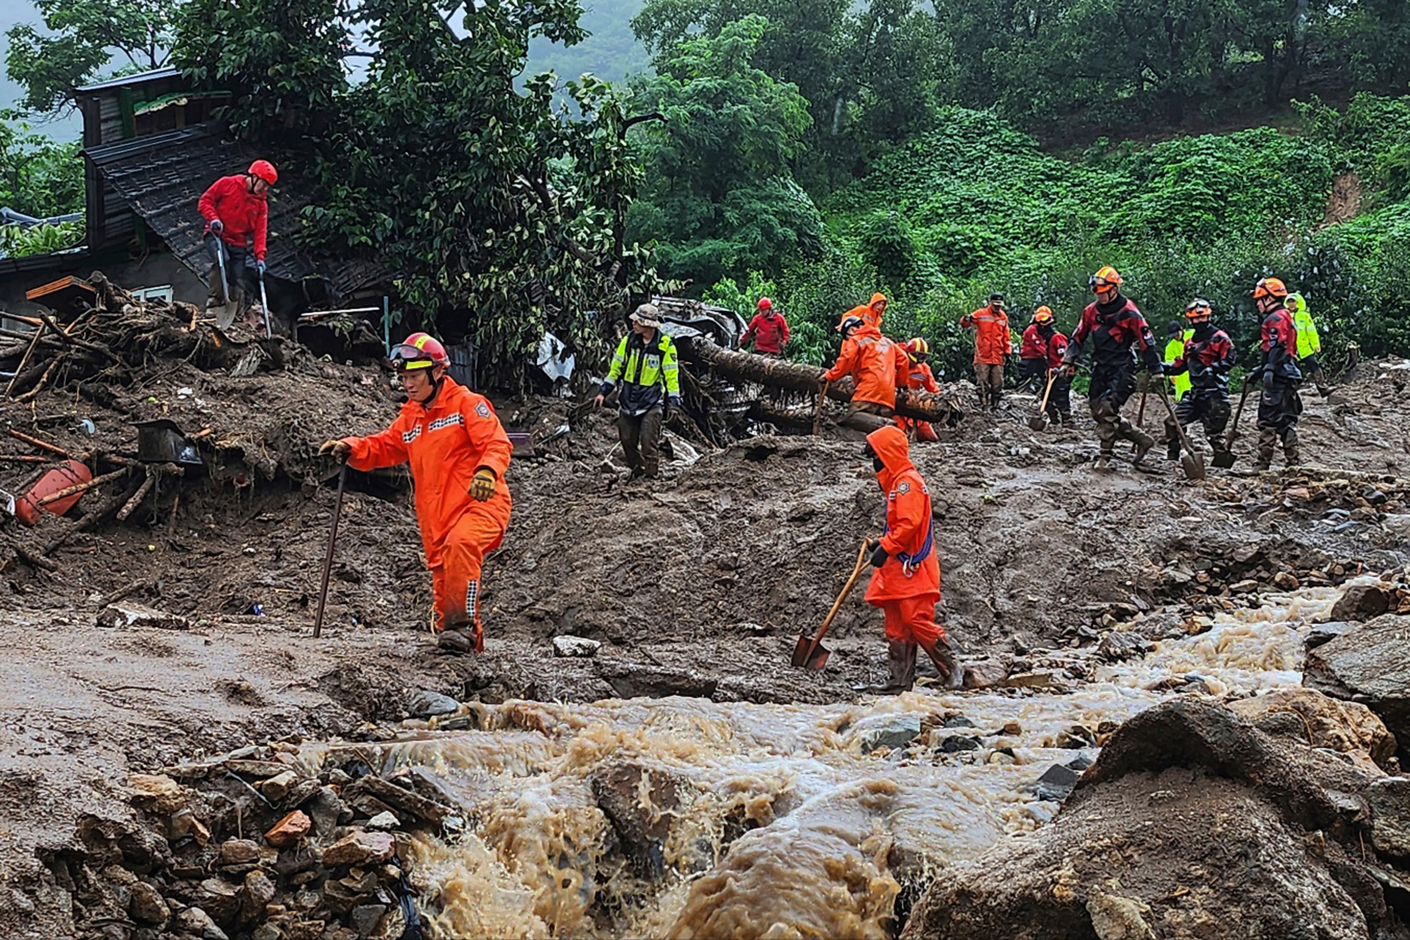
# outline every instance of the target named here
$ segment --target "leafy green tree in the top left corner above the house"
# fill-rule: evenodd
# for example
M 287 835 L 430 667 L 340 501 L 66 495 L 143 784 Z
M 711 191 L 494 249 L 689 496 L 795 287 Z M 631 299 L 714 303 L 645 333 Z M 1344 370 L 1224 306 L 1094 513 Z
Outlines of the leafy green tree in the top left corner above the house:
M 75 106 L 75 90 L 99 76 L 114 58 L 123 69 L 158 69 L 172 42 L 178 0 L 34 0 L 44 35 L 21 23 L 10 27 L 6 73 L 24 87 L 20 107 L 49 114 Z

